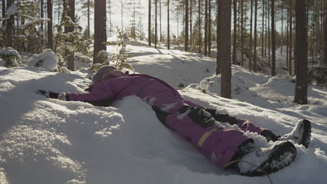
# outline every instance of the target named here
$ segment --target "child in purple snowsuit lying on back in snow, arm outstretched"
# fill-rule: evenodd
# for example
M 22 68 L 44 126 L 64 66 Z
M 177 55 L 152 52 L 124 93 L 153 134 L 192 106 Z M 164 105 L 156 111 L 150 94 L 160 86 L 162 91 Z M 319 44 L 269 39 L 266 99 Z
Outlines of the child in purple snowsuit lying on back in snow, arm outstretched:
M 136 95 L 152 106 L 163 125 L 190 139 L 218 167 L 235 169 L 245 176 L 262 176 L 286 167 L 296 158 L 293 143 L 307 147 L 310 142 L 310 121 L 298 121 L 291 133 L 280 137 L 251 121 L 218 114 L 215 109 L 206 109 L 185 100 L 172 86 L 150 75 L 128 74 L 112 66 L 103 66 L 92 82 L 87 89 L 89 93 L 59 94 L 43 90 L 36 93 L 47 98 L 82 101 L 102 107 L 110 106 L 114 100 Z M 226 123 L 238 125 L 240 129 L 226 128 Z M 254 139 L 244 134 L 246 131 L 257 132 L 276 143 L 269 148 L 256 148 Z M 249 167 L 240 162 L 249 160 L 255 160 L 256 166 Z

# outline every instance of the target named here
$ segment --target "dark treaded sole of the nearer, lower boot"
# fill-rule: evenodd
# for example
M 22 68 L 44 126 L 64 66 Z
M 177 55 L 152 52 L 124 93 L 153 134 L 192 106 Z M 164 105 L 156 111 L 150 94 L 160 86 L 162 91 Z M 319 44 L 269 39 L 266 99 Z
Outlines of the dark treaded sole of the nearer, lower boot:
M 290 141 L 286 141 L 275 146 L 272 153 L 270 153 L 268 160 L 263 162 L 258 168 L 242 175 L 263 176 L 274 173 L 291 164 L 295 158 L 296 147 Z

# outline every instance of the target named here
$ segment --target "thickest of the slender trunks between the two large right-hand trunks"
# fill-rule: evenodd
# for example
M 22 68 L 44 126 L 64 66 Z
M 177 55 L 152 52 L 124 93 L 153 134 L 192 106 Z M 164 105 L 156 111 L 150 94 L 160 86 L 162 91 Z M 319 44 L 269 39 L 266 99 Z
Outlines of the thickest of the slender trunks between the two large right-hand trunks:
M 275 0 L 271 1 L 271 75 L 276 75 Z

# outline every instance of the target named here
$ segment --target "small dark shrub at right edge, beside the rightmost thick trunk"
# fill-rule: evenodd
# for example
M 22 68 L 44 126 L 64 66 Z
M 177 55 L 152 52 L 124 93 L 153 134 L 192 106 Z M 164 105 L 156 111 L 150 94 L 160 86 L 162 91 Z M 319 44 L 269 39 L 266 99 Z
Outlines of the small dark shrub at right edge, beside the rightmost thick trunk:
M 317 86 L 327 88 L 327 67 L 320 66 L 311 68 L 308 72 L 309 82 L 316 82 Z

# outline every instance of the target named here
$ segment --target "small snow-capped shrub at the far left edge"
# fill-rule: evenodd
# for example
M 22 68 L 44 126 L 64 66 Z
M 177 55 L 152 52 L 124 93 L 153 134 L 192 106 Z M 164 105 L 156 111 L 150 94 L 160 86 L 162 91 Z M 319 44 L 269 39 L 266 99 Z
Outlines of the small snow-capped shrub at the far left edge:
M 3 64 L 0 64 L 6 67 L 19 66 L 22 61 L 20 54 L 11 47 L 0 49 L 0 58 L 4 61 Z

